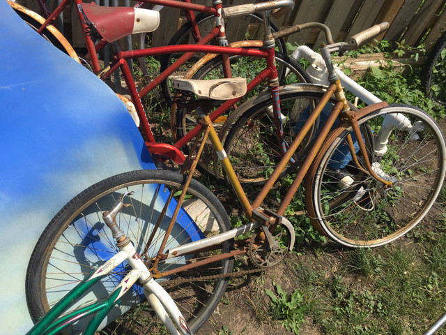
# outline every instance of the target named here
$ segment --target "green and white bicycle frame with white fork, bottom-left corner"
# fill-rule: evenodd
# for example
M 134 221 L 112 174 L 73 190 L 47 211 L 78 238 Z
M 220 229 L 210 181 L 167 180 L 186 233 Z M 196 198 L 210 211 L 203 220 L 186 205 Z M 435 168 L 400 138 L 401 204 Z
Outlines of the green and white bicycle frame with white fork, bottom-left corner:
M 130 239 L 123 234 L 122 230 L 116 228 L 115 216 L 123 206 L 126 206 L 123 204 L 124 196 L 130 194 L 131 193 L 125 193 L 121 195 L 112 209 L 106 211 L 103 215 L 107 226 L 109 226 L 114 233 L 114 237 L 116 236 L 117 246 L 120 251 L 98 267 L 93 274 L 87 276 L 81 283 L 68 292 L 63 299 L 58 301 L 57 304 L 55 304 L 48 313 L 26 333 L 26 335 L 59 334 L 64 328 L 90 315 L 93 315 L 93 317 L 82 334 L 94 335 L 102 320 L 105 319 L 115 305 L 120 304 L 119 299 L 125 295 L 125 293 L 127 293 L 130 288 L 132 288 L 132 285 L 138 280 L 141 282 L 146 298 L 151 303 L 155 313 L 160 317 L 160 320 L 164 322 L 164 325 L 170 334 L 192 334 L 174 300 L 171 299 L 169 294 L 160 284 L 155 282 L 153 276 L 151 276 L 150 272 L 148 272 L 148 269 L 145 267 L 144 262 L 139 258 Z M 115 232 L 117 232 L 116 235 Z M 119 234 L 121 234 L 121 236 L 119 236 Z M 128 262 L 132 267 L 132 270 L 129 271 L 129 273 L 121 280 L 121 283 L 116 286 L 108 297 L 64 314 L 68 308 L 70 308 L 77 299 L 82 297 L 84 293 L 88 292 L 95 283 L 98 283 L 102 278 L 105 278 L 105 276 L 114 271 L 114 269 L 123 262 Z M 171 319 L 173 319 L 174 322 L 172 322 Z

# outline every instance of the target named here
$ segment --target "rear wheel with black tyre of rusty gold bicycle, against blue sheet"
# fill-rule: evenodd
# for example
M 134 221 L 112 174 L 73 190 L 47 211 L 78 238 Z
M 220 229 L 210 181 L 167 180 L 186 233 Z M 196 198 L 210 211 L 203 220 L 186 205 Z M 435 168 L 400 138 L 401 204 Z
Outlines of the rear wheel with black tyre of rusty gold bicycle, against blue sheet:
M 116 221 L 150 268 L 176 206 L 175 199 L 179 197 L 178 193 L 184 182 L 185 176 L 182 174 L 164 170 L 127 172 L 87 188 L 63 207 L 40 236 L 26 273 L 26 297 L 33 319 L 38 320 L 56 301 L 82 281 L 89 271 L 94 271 L 116 253 L 112 234 L 102 221 L 102 212 L 109 210 L 118 196 L 125 191 L 134 191 L 128 200 L 131 206 L 123 209 Z M 171 191 L 174 192 L 174 200 L 169 203 L 164 217 L 160 218 Z M 151 244 L 147 246 L 158 218 L 161 219 L 160 228 Z M 229 218 L 220 201 L 205 186 L 192 180 L 164 252 L 180 244 L 225 232 L 229 228 Z M 157 269 L 163 273 L 183 265 L 191 265 L 197 260 L 228 252 L 231 244 L 231 241 L 226 241 L 221 248 L 213 251 L 165 260 Z M 233 260 L 226 258 L 159 279 L 169 283 L 179 278 L 190 278 L 187 283 L 179 283 L 167 288 L 167 291 L 194 331 L 213 313 L 228 283 L 227 277 L 199 277 L 226 274 L 232 271 L 232 266 Z M 116 268 L 100 285 L 95 285 L 76 306 L 108 295 L 127 271 L 126 265 Z M 132 307 L 142 306 L 143 299 L 141 286 L 134 285 L 132 292 L 121 299 L 121 306 L 115 306 L 107 315 L 107 321 L 111 322 L 125 312 L 137 313 L 134 318 L 141 320 L 143 308 Z M 124 323 L 130 319 L 131 316 L 125 318 Z M 75 326 L 77 333 L 84 324 Z

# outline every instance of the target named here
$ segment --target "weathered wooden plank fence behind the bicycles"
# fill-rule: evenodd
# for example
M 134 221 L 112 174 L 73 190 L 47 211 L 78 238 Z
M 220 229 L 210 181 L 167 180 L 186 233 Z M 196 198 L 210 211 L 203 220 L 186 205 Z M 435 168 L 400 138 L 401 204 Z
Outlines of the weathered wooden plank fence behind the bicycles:
M 36 0 L 22 1 L 25 2 L 24 6 L 36 8 Z M 196 1 L 201 4 L 210 2 L 210 0 Z M 223 0 L 223 2 L 224 6 L 231 6 L 251 1 Z M 321 22 L 330 27 L 335 41 L 342 41 L 373 24 L 387 21 L 390 23 L 390 29 L 378 39 L 390 40 L 393 43 L 404 42 L 403 44 L 408 46 L 417 46 L 420 42 L 424 42 L 426 49 L 429 49 L 446 29 L 445 7 L 446 0 L 295 0 L 293 10 L 275 20 L 275 24 L 278 27 L 291 27 L 305 22 Z M 72 36 L 73 45 L 82 47 L 84 42 L 76 13 L 74 10 L 72 13 L 67 10 L 63 17 L 63 25 L 66 32 L 68 30 L 71 33 L 68 35 Z M 167 44 L 184 22 L 185 17 L 180 10 L 163 8 L 160 28 L 153 33 L 152 45 Z M 247 24 L 246 30 L 239 32 L 238 36 L 231 36 L 230 42 L 243 39 L 246 34 L 252 34 L 254 31 L 252 24 Z M 305 43 L 317 49 L 325 37 L 314 29 L 293 34 L 287 40 L 291 43 Z

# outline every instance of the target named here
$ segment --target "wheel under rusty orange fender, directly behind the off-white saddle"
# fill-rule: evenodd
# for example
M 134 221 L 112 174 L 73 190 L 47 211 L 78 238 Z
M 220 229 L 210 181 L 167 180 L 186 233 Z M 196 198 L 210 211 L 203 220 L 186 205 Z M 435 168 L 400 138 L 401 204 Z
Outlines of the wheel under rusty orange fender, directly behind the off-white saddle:
M 305 72 L 305 70 L 297 63 L 297 61 L 295 61 L 295 59 L 290 59 L 286 55 L 276 52 L 275 60 L 276 60 L 277 71 L 279 74 L 280 84 L 285 85 L 296 82 L 310 81 L 310 78 Z M 231 57 L 231 64 L 232 64 L 231 67 L 233 75 L 235 77 L 236 76 L 247 77 L 247 80 L 249 81 L 252 80 L 261 70 L 263 70 L 266 67 L 266 60 L 234 56 Z M 286 70 L 289 70 L 288 73 L 286 73 Z M 213 59 L 213 61 L 210 61 L 208 64 L 203 66 L 193 77 L 193 79 L 206 79 L 206 80 L 218 79 L 218 78 L 222 78 L 221 57 L 217 57 Z M 249 94 L 247 94 L 247 97 L 243 98 L 243 100 L 240 101 L 239 105 L 244 101 L 247 101 L 249 98 L 259 95 L 261 91 L 264 91 L 267 88 L 268 88 L 268 81 L 265 81 L 258 87 L 256 87 L 254 90 L 249 92 Z M 282 99 L 282 96 L 280 96 L 280 98 Z M 266 107 L 266 106 L 272 106 L 271 101 L 268 101 L 267 104 L 268 105 L 263 106 L 263 110 L 270 111 L 272 107 Z M 229 113 L 231 113 L 231 111 Z M 284 111 L 284 115 L 287 115 L 286 113 L 287 111 Z M 270 113 L 270 117 L 272 120 L 272 113 Z M 216 128 L 217 132 L 220 132 L 220 128 L 222 127 L 225 121 L 226 121 L 226 116 L 222 116 L 214 122 L 213 125 Z M 194 128 L 194 126 L 197 126 L 197 115 L 187 114 L 184 108 L 178 108 L 176 112 L 177 138 L 179 139 L 183 137 L 188 131 Z M 223 139 L 224 137 L 225 136 L 222 135 Z M 185 152 L 189 153 L 189 147 L 185 147 L 184 150 Z M 214 165 L 215 165 L 215 159 L 213 155 L 213 148 L 209 142 L 208 144 L 206 144 L 204 153 L 201 156 L 198 167 L 202 173 L 208 174 L 211 177 L 215 177 Z M 218 173 L 220 174 L 219 177 L 223 177 L 221 170 Z M 242 176 L 240 175 L 239 177 L 243 182 Z M 257 181 L 252 180 L 252 182 L 257 182 Z

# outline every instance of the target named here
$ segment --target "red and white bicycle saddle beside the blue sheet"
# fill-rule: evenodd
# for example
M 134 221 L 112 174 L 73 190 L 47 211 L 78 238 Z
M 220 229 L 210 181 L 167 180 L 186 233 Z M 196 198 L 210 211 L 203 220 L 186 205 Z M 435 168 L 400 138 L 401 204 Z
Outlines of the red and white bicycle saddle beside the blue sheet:
M 104 7 L 82 3 L 86 18 L 102 38 L 112 43 L 119 38 L 137 33 L 150 33 L 160 25 L 160 12 L 133 7 Z

